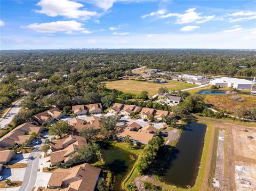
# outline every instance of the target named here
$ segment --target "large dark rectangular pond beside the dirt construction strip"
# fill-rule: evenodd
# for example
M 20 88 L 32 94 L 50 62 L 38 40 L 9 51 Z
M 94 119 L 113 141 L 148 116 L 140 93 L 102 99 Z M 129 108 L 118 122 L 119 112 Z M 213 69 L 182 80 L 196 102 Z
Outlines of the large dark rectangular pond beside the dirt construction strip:
M 177 146 L 170 153 L 163 175 L 160 177 L 161 181 L 181 188 L 195 185 L 206 127 L 202 123 L 190 123 L 184 128 Z

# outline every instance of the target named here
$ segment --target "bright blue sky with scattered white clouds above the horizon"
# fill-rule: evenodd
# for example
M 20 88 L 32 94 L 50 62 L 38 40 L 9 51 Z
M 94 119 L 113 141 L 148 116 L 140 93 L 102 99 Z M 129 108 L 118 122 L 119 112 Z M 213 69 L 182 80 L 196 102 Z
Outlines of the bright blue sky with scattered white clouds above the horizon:
M 256 1 L 0 1 L 1 49 L 256 48 Z

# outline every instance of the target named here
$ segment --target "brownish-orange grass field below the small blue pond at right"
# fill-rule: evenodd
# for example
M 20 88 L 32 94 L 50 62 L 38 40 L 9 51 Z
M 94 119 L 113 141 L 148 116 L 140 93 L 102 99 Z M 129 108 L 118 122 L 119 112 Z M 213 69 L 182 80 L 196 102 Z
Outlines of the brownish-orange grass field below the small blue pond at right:
M 256 96 L 238 95 L 244 98 L 244 102 L 231 100 L 230 95 L 205 95 L 205 101 L 217 107 L 217 109 L 226 110 L 230 114 L 234 113 L 233 109 L 235 106 L 256 107 Z

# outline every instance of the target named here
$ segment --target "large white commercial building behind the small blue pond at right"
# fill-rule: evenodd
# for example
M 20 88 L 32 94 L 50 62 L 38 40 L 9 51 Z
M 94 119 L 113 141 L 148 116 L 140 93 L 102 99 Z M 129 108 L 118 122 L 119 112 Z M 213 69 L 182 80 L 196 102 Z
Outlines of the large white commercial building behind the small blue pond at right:
M 245 79 L 222 77 L 211 80 L 210 84 L 220 87 L 234 87 L 235 89 L 252 89 L 256 83 Z

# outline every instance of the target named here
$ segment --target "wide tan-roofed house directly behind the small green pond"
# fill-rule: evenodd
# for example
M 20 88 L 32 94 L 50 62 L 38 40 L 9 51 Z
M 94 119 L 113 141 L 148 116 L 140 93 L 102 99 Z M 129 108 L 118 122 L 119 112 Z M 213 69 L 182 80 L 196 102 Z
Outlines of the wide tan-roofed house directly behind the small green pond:
M 156 136 L 156 134 L 150 134 L 149 131 L 134 131 L 134 128 L 127 127 L 123 132 L 117 134 L 117 138 L 124 142 L 127 135 L 130 136 L 129 139 L 133 144 L 137 144 L 137 142 L 148 144 L 149 140 Z

